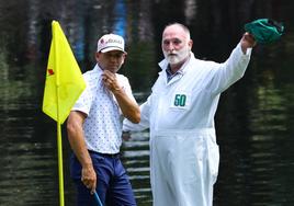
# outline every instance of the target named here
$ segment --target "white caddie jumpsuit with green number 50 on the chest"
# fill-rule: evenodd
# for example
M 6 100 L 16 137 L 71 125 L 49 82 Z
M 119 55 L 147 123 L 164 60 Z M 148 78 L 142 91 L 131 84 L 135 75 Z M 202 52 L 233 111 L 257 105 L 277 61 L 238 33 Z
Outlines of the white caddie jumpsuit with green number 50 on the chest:
M 167 81 L 162 71 L 140 105 L 142 122 L 124 121 L 124 130 L 150 128 L 150 181 L 154 206 L 212 206 L 219 151 L 214 116 L 219 94 L 240 79 L 251 49 L 240 44 L 224 64 L 191 53 L 181 73 Z

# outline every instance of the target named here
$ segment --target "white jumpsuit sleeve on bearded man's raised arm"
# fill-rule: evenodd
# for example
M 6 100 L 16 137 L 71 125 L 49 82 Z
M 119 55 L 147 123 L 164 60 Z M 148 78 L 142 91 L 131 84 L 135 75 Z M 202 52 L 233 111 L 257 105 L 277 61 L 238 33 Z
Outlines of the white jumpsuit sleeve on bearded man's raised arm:
M 233 83 L 242 78 L 251 56 L 251 48 L 247 49 L 244 54 L 240 43 L 231 52 L 229 58 L 223 62 L 217 64 L 217 68 L 214 69 L 211 88 L 213 93 L 218 94 L 225 91 Z

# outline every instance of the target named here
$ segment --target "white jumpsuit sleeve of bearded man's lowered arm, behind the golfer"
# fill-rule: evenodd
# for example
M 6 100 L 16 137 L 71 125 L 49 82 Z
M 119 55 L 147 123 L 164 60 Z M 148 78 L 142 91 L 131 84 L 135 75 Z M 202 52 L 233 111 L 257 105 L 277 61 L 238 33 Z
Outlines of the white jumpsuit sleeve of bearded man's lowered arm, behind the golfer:
M 138 124 L 134 124 L 128 119 L 124 119 L 123 122 L 123 131 L 140 131 L 149 128 L 149 115 L 150 115 L 150 96 L 147 99 L 145 103 L 140 106 L 140 122 Z

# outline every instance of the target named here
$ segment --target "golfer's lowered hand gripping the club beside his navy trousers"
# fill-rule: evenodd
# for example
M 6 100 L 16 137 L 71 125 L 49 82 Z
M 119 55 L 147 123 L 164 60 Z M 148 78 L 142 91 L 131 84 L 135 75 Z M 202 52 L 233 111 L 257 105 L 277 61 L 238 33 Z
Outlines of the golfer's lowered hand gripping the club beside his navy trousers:
M 87 188 L 91 190 L 91 194 L 94 194 L 97 186 L 97 174 L 92 165 L 82 168 L 81 182 Z

